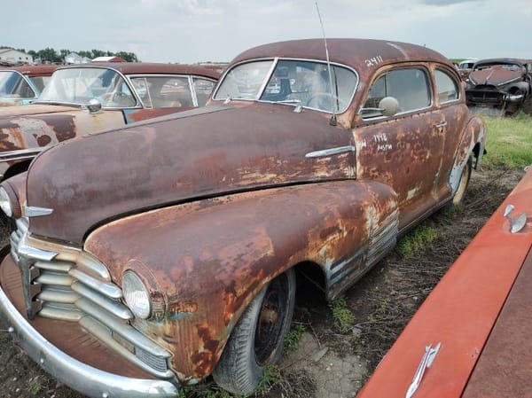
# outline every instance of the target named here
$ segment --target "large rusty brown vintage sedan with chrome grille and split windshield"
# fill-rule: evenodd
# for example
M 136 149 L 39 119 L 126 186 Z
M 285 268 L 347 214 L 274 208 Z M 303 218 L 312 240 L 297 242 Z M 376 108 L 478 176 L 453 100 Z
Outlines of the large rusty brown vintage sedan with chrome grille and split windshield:
M 254 391 L 297 277 L 332 300 L 464 196 L 485 130 L 448 59 L 362 39 L 271 43 L 207 106 L 80 137 L 4 181 L 0 314 L 90 396 Z M 296 272 L 297 271 L 297 272 Z

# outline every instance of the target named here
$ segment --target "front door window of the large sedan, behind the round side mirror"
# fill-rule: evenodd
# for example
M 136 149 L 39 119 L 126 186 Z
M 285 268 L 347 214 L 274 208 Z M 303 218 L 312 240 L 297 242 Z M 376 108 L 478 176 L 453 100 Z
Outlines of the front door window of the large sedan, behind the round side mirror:
M 424 109 L 431 104 L 428 75 L 418 67 L 394 69 L 373 82 L 364 103 L 364 119 L 381 116 L 378 111 L 382 98 L 394 97 L 399 102 L 400 113 Z

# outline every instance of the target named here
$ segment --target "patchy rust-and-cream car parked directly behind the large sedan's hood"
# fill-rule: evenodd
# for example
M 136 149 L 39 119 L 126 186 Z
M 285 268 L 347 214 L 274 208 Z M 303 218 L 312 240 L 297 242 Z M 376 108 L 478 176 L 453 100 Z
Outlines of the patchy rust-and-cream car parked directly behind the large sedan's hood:
M 140 62 L 60 67 L 32 104 L 0 109 L 0 177 L 26 170 L 60 141 L 205 105 L 219 76 L 200 66 Z

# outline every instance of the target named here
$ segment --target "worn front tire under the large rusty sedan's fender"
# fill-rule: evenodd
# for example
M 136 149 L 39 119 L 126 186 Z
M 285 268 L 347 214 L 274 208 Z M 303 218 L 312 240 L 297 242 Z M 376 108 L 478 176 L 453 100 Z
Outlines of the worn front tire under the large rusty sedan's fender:
M 234 327 L 213 371 L 218 386 L 253 394 L 267 365 L 283 355 L 295 300 L 295 274 L 288 269 L 262 288 Z

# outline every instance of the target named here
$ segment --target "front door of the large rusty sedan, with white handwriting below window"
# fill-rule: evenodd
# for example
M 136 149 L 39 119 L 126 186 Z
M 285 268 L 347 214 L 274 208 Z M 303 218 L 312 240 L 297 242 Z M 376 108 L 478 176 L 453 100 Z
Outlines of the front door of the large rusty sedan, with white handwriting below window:
M 446 122 L 433 106 L 433 90 L 425 64 L 392 66 L 372 80 L 354 130 L 356 178 L 393 187 L 400 207 L 400 230 L 436 204 L 440 184 Z M 382 98 L 393 97 L 399 111 L 384 116 Z M 367 112 L 367 111 L 370 112 Z

